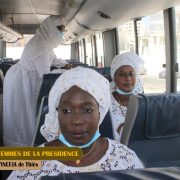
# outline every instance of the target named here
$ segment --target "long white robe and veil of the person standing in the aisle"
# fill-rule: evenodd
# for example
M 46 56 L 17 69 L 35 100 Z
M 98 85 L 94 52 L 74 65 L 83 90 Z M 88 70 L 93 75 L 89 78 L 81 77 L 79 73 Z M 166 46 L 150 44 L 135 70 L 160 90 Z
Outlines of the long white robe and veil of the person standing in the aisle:
M 26 44 L 20 61 L 4 79 L 3 142 L 5 146 L 30 146 L 36 125 L 36 103 L 43 74 L 50 72 L 53 48 L 62 41 L 58 16 L 48 17 Z

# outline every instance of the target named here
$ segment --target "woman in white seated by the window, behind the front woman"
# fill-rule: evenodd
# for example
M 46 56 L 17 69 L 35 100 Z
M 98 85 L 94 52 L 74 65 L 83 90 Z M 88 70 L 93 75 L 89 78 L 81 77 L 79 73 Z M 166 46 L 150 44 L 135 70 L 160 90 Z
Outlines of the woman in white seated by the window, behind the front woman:
M 111 63 L 111 105 L 110 112 L 114 139 L 120 142 L 127 105 L 131 95 L 143 93 L 140 70 L 143 60 L 132 52 L 116 55 Z

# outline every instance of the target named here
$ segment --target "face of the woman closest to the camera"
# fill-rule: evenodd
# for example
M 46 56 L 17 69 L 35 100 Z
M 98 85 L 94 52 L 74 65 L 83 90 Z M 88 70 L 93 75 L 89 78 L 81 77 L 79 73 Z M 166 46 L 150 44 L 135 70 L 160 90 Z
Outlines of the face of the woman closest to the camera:
M 97 101 L 88 92 L 71 87 L 62 94 L 58 119 L 61 132 L 73 145 L 83 145 L 91 140 L 98 128 L 100 114 Z

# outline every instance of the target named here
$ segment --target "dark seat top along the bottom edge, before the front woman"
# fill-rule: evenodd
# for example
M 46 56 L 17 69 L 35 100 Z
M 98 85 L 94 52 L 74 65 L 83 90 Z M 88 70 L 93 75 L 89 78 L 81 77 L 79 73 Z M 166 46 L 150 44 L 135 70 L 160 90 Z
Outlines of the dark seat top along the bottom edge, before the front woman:
M 43 176 L 41 180 L 175 180 L 179 179 L 178 167 L 144 168 L 83 173 L 60 173 L 58 176 Z

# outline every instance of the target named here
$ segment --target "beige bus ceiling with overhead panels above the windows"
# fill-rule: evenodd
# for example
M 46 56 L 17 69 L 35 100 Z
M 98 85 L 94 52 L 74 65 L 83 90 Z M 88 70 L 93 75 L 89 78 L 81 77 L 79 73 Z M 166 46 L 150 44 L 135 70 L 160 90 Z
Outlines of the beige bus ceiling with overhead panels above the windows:
M 64 43 L 68 44 L 179 3 L 179 0 L 0 0 L 0 20 L 15 34 L 34 34 L 46 17 L 60 15 L 67 27 Z M 3 36 L 5 33 L 0 31 L 0 38 L 8 42 Z

